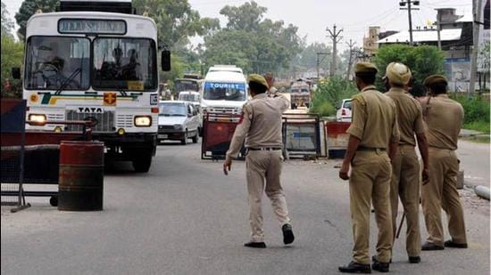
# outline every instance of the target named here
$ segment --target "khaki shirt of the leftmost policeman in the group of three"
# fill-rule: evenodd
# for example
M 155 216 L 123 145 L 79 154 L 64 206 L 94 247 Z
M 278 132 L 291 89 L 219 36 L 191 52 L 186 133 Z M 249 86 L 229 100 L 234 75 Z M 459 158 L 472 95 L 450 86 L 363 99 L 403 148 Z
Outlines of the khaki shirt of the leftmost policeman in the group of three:
M 352 109 L 353 119 L 346 133 L 360 139 L 360 146 L 387 149 L 389 142 L 399 142 L 395 103 L 374 85 L 354 95 Z

